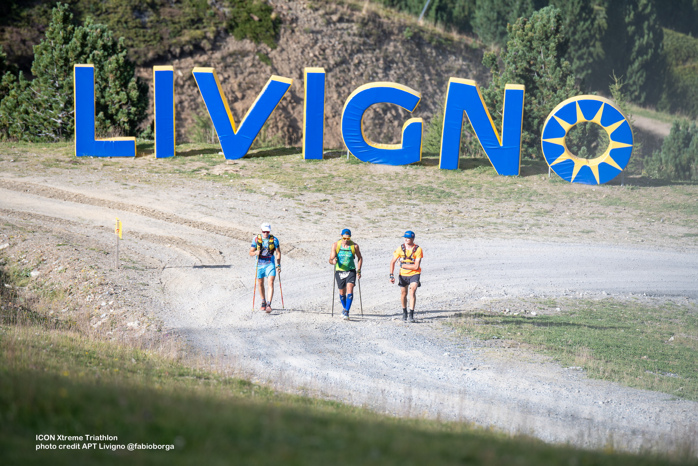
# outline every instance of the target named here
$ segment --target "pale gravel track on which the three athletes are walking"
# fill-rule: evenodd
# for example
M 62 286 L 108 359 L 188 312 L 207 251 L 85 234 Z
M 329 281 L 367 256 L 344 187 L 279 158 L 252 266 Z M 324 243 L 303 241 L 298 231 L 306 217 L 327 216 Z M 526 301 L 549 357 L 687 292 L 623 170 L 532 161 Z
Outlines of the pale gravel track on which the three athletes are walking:
M 352 228 L 366 256 L 364 316 L 357 315 L 355 300 L 354 320 L 346 322 L 339 313 L 328 314 L 332 271 L 325 249 L 340 224 L 328 219 L 322 227 L 329 233 L 319 235 L 322 228 L 285 217 L 283 208 L 292 201 L 240 193 L 226 194 L 224 202 L 220 191 L 191 183 L 176 191 L 110 185 L 94 191 L 32 177 L 5 177 L 2 183 L 4 209 L 99 231 L 94 240 L 105 248 L 112 242 L 109 222 L 121 217 L 124 251 L 159 264 L 149 272 L 162 288 L 156 316 L 255 379 L 382 412 L 473 421 L 585 446 L 606 444 L 612 436 L 621 448 L 669 449 L 697 437 L 698 403 L 586 379 L 528 351 L 455 340 L 440 325 L 474 303 L 507 296 L 695 299 L 698 257 L 685 247 L 472 235 L 446 242 L 440 233 L 417 232 L 426 252 L 424 286 L 419 323 L 408 325 L 394 320 L 398 289 L 387 282 L 399 231 L 373 226 L 366 234 L 369 227 L 358 221 Z M 220 205 L 245 208 L 226 212 Z M 245 215 L 246 207 L 265 217 Z M 246 254 L 246 238 L 267 218 L 285 253 L 286 309 L 269 316 L 251 310 L 252 259 Z M 280 301 L 277 290 L 274 307 Z

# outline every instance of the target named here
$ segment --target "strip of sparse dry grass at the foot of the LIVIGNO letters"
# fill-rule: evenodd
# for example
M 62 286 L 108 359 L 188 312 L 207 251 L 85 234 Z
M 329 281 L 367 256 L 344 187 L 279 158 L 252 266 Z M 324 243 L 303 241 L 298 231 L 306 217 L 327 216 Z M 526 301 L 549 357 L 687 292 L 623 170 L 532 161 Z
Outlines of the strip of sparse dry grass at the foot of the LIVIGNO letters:
M 4 166 L 20 177 L 37 170 L 47 176 L 99 173 L 122 183 L 123 189 L 133 189 L 136 183 L 200 180 L 246 193 L 275 192 L 305 203 L 314 202 L 313 196 L 303 194 L 319 194 L 317 197 L 332 202 L 365 201 L 371 210 L 389 210 L 396 199 L 409 199 L 425 205 L 422 214 L 413 218 L 415 228 L 423 222 L 451 221 L 466 228 L 511 233 L 512 228 L 518 231 L 517 221 L 556 217 L 556 205 L 570 205 L 567 221 L 599 218 L 625 228 L 628 223 L 646 226 L 664 219 L 681 227 L 698 228 L 696 182 L 666 182 L 633 175 L 625 177 L 625 187 L 619 185 L 619 180 L 587 187 L 567 183 L 555 174 L 548 178 L 546 163 L 533 160 L 522 161 L 520 176 L 503 177 L 496 175 L 489 160 L 483 158 L 461 158 L 458 170 L 440 170 L 438 157 L 430 154 L 410 166 L 385 167 L 363 163 L 354 156 L 347 160 L 342 151 L 329 152 L 324 160 L 306 161 L 297 147 L 262 147 L 235 161 L 226 161 L 218 155 L 220 146 L 207 143 L 178 145 L 177 156 L 169 159 L 155 159 L 149 140 L 138 140 L 137 149 L 138 156 L 133 159 L 93 159 L 75 157 L 73 147 L 63 143 L 0 143 L 0 160 L 15 159 L 17 163 Z M 447 210 L 431 208 L 439 204 Z M 611 217 L 611 213 L 621 215 Z M 599 214 L 603 217 L 590 217 Z M 581 231 L 603 234 L 607 228 L 579 226 L 572 229 L 572 235 L 591 234 Z M 545 227 L 531 226 L 537 233 L 555 234 Z M 678 237 L 689 240 L 683 233 Z

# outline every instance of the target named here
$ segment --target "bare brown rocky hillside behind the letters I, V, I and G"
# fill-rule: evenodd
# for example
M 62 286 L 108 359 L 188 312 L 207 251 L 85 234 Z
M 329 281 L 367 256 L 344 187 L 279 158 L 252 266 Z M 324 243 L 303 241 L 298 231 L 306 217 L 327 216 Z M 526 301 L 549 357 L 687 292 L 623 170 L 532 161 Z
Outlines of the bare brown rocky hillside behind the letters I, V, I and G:
M 283 20 L 275 50 L 224 37 L 210 50 L 154 63 L 174 66 L 180 141 L 193 137 L 194 115 L 208 120 L 191 75 L 195 66 L 216 68 L 236 122 L 244 117 L 270 75 L 292 78 L 290 92 L 269 119 L 267 131 L 260 135 L 278 138 L 277 143 L 286 145 L 298 145 L 302 138 L 303 68 L 324 67 L 325 147 L 343 146 L 339 123 L 344 101 L 366 82 L 399 82 L 421 92 L 422 101 L 413 116 L 429 119 L 439 103 L 443 105 L 448 78 L 484 83 L 489 75 L 480 64 L 482 50 L 474 47 L 470 38 L 418 27 L 413 19 L 394 11 L 368 4 L 362 10 L 331 4 L 313 6 L 306 1 L 275 1 L 274 7 Z M 264 62 L 267 57 L 270 65 Z M 141 68 L 140 75 L 152 82 L 152 68 Z M 408 115 L 396 105 L 375 105 L 366 113 L 364 127 L 374 140 L 399 142 Z

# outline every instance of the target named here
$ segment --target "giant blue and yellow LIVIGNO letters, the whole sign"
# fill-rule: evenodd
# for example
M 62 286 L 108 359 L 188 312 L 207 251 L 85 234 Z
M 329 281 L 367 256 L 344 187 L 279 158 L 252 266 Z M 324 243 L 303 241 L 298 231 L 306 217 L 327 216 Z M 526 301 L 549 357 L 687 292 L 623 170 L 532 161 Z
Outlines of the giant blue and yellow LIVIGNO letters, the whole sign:
M 94 66 L 77 64 L 75 77 L 75 155 L 135 156 L 135 138 L 96 139 L 94 131 Z M 276 105 L 291 87 L 292 80 L 273 75 L 262 88 L 239 126 L 230 112 L 214 68 L 192 71 L 214 124 L 226 159 L 240 159 L 250 149 Z M 155 155 L 174 156 L 174 68 L 153 67 Z M 305 68 L 303 104 L 303 156 L 322 159 L 325 122 L 325 70 Z M 463 113 L 468 116 L 482 149 L 499 175 L 519 175 L 521 167 L 522 85 L 505 86 L 502 131 L 497 131 L 480 89 L 473 80 L 450 78 L 446 90 L 439 168 L 458 168 Z M 414 112 L 422 95 L 395 82 L 369 82 L 358 87 L 344 103 L 341 134 L 348 150 L 369 163 L 407 165 L 422 159 L 421 118 L 410 118 L 402 127 L 400 144 L 380 144 L 366 138 L 362 129 L 364 112 L 374 103 L 394 103 Z M 595 159 L 582 159 L 565 145 L 567 131 L 579 122 L 595 122 L 610 139 L 606 152 Z M 599 96 L 576 96 L 554 108 L 541 135 L 545 160 L 555 173 L 573 183 L 602 184 L 612 180 L 628 165 L 632 155 L 632 131 L 628 119 L 611 101 Z

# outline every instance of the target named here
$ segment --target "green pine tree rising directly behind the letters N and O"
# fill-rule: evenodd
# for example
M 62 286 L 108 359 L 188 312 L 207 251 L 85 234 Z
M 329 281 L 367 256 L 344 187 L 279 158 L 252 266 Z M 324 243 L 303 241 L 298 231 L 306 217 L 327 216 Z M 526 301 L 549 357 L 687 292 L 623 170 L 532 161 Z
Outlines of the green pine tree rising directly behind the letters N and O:
M 519 18 L 507 31 L 507 48 L 499 57 L 504 70 L 500 71 L 496 54 L 489 52 L 482 59 L 492 73 L 489 87 L 481 89 L 482 97 L 501 128 L 505 85 L 526 86 L 521 148 L 535 157 L 540 154 L 540 132 L 548 114 L 558 103 L 580 94 L 572 67 L 563 59 L 569 41 L 563 34 L 560 10 L 551 6 L 536 11 L 530 20 Z

